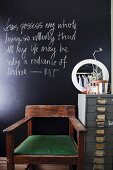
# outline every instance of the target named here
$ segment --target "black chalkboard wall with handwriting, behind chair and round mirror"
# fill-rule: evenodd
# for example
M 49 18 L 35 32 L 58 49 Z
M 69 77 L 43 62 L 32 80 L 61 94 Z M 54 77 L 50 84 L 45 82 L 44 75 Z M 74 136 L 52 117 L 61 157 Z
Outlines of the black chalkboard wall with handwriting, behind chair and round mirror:
M 0 0 L 0 156 L 26 105 L 77 104 L 78 62 L 101 47 L 110 73 L 110 43 L 110 0 Z

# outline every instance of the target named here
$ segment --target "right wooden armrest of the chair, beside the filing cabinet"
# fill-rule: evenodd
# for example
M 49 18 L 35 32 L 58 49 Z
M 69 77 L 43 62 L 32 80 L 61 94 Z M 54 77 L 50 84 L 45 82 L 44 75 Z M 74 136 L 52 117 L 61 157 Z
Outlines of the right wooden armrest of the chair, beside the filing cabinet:
M 69 120 L 77 132 L 87 131 L 86 128 L 75 117 L 70 117 Z

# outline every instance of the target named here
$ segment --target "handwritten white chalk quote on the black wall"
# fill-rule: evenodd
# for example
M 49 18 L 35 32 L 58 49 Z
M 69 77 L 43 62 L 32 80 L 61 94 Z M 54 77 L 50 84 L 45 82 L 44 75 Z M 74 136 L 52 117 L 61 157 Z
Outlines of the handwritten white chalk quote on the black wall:
M 75 19 L 56 22 L 14 23 L 8 18 L 5 27 L 7 76 L 40 74 L 55 78 L 66 69 L 69 42 L 76 40 Z

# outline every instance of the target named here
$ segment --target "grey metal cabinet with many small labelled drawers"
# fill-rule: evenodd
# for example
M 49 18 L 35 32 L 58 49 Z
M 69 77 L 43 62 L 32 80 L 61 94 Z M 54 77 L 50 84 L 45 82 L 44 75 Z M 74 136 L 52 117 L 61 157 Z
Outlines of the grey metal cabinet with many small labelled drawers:
M 78 118 L 87 128 L 84 170 L 113 170 L 113 95 L 78 94 Z

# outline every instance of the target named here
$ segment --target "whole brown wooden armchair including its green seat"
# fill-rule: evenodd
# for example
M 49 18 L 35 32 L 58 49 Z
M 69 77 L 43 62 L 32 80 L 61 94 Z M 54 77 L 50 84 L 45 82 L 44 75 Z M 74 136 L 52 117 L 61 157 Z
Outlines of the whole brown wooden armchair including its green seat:
M 65 118 L 68 120 L 68 135 L 33 135 L 33 120 L 36 118 Z M 28 137 L 14 149 L 14 130 L 28 124 Z M 74 141 L 77 132 L 77 144 Z M 35 169 L 39 164 L 77 165 L 83 170 L 84 136 L 86 129 L 75 118 L 74 105 L 28 105 L 25 118 L 4 130 L 6 133 L 7 170 L 14 170 L 15 164 L 27 164 Z

